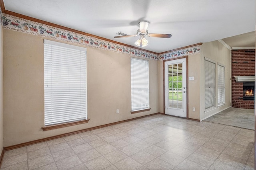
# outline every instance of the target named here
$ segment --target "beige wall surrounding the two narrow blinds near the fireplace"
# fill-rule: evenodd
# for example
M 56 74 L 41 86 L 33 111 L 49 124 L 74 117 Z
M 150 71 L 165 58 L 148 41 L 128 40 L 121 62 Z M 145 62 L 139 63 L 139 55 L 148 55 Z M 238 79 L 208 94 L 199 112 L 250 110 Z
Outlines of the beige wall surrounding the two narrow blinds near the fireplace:
M 200 120 L 204 120 L 211 115 L 214 115 L 224 109 L 230 107 L 231 102 L 231 66 L 230 66 L 230 50 L 227 49 L 222 43 L 219 41 L 212 41 L 209 43 L 203 43 L 200 48 L 201 55 L 201 71 L 200 71 Z M 225 65 L 225 102 L 226 104 L 223 106 L 217 106 L 217 98 L 215 100 L 216 107 L 211 109 L 210 111 L 204 110 L 204 57 L 211 59 L 216 64 L 216 87 L 217 87 L 217 71 L 218 71 L 218 63 Z M 217 88 L 216 88 L 216 97 L 217 97 Z

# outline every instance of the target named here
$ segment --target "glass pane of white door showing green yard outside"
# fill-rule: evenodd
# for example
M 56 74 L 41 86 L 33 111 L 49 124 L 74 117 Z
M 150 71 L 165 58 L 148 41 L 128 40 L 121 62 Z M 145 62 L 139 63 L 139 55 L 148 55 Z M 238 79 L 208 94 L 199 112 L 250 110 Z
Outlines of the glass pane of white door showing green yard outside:
M 168 66 L 169 107 L 182 108 L 182 63 Z

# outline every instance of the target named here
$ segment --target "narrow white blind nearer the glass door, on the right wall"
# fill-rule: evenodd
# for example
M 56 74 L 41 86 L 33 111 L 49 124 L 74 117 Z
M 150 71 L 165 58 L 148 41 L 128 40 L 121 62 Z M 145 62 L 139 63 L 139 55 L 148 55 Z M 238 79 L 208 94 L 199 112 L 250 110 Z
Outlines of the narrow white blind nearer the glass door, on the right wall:
M 204 75 L 204 108 L 208 109 L 210 107 L 214 107 L 215 105 L 215 63 L 204 60 Z

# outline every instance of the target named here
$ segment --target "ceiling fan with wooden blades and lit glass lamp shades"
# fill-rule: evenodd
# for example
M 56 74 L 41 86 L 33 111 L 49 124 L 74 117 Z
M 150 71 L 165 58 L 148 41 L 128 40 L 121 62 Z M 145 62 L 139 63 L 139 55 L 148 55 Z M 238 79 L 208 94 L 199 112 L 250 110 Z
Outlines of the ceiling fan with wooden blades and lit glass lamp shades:
M 158 38 L 170 38 L 172 37 L 171 34 L 153 34 L 148 33 L 148 22 L 147 21 L 140 21 L 139 22 L 140 29 L 137 30 L 137 34 L 135 35 L 122 35 L 122 36 L 116 36 L 114 38 L 122 38 L 122 37 L 136 37 L 140 36 L 140 39 L 138 39 L 135 44 L 139 47 L 145 47 L 148 45 L 148 40 L 146 40 L 145 36 L 148 37 L 158 37 Z

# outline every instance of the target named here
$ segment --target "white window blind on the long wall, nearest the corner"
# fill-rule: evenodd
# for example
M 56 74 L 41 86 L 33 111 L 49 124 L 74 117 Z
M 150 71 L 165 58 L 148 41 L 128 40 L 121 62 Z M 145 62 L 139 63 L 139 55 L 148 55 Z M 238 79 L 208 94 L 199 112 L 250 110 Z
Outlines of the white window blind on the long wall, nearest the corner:
M 148 61 L 131 58 L 132 111 L 149 108 Z

